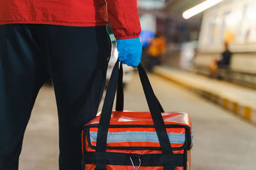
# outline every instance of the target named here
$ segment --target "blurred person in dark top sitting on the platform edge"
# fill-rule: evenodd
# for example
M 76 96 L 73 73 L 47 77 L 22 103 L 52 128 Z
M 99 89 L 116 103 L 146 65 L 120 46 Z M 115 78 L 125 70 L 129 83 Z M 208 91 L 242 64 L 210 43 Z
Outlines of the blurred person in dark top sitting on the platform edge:
M 229 50 L 229 44 L 227 41 L 224 43 L 224 49 L 224 52 L 221 53 L 221 59 L 212 60 L 211 64 L 209 65 L 209 69 L 211 70 L 211 77 L 221 78 L 219 74 L 219 69 L 228 69 L 228 67 L 230 66 L 232 53 Z

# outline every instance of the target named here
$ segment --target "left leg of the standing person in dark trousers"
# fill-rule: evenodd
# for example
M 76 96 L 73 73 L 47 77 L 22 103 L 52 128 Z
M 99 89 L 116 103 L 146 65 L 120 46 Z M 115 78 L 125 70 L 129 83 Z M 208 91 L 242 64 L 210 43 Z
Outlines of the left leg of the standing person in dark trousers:
M 17 170 L 24 131 L 48 74 L 30 25 L 0 25 L 0 169 Z

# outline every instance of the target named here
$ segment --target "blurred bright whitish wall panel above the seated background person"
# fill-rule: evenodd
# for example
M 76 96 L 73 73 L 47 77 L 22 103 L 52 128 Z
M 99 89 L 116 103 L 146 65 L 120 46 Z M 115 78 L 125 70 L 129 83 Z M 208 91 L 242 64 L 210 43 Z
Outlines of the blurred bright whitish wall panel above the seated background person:
M 255 11 L 255 0 L 225 0 L 205 11 L 199 49 L 220 52 L 228 42 L 237 52 L 256 51 Z

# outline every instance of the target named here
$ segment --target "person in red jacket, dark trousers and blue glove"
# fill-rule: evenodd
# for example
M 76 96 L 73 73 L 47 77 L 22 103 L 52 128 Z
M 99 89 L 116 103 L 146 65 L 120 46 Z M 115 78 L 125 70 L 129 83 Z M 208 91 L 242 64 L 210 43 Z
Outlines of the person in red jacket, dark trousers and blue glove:
M 58 106 L 60 170 L 81 169 L 81 130 L 97 112 L 111 53 L 108 20 L 119 60 L 138 66 L 136 0 L 0 0 L 1 170 L 18 169 L 26 125 L 48 78 Z

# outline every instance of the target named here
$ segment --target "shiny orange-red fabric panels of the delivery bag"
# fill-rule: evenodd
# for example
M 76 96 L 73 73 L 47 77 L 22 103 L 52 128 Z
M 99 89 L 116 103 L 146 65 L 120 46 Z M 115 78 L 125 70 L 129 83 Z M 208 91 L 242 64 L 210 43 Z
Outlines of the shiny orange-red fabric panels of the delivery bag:
M 162 113 L 164 124 L 178 124 L 178 125 L 186 125 L 189 126 L 191 129 L 191 120 L 189 118 L 189 115 L 186 113 Z M 84 126 L 84 130 L 86 132 L 97 132 L 98 127 L 88 127 L 87 125 L 95 125 L 99 124 L 100 115 L 93 118 L 90 122 L 88 122 Z M 150 113 L 148 112 L 134 112 L 134 111 L 112 111 L 111 119 L 110 119 L 110 125 L 153 125 L 152 117 Z M 186 130 L 184 127 L 176 128 L 176 127 L 166 127 L 167 132 L 177 133 L 177 134 L 185 134 Z M 156 129 L 152 127 L 109 127 L 108 132 L 156 132 Z M 192 133 L 192 131 L 191 131 Z M 84 147 L 85 152 L 95 152 L 95 148 L 92 146 L 96 145 L 95 141 L 92 141 L 90 138 L 85 137 L 83 138 L 84 132 L 82 132 L 82 150 Z M 190 138 L 190 137 L 186 137 Z M 83 140 L 84 139 L 84 140 Z M 91 144 L 91 145 L 89 145 Z M 182 145 L 185 145 L 184 147 L 187 147 L 187 143 L 171 143 L 172 148 L 177 148 Z M 147 141 L 136 141 L 136 142 L 127 142 L 127 141 L 118 141 L 118 142 L 109 142 L 107 143 L 107 146 L 156 146 L 160 147 L 159 143 L 151 143 Z M 155 154 L 155 153 L 163 153 L 161 150 L 120 150 L 118 148 L 115 149 L 107 149 L 106 152 L 114 152 L 114 153 L 127 153 L 127 154 L 138 154 L 138 155 L 144 155 L 144 154 Z M 190 169 L 191 164 L 191 155 L 190 150 L 173 150 L 173 154 L 184 154 L 187 155 L 187 169 Z M 86 153 L 85 153 L 86 154 Z M 186 165 L 184 165 L 186 166 Z M 86 164 L 84 167 L 85 170 L 93 170 L 95 168 L 95 165 L 89 165 Z M 107 169 L 115 169 L 115 170 L 125 170 L 125 169 L 132 169 L 131 166 L 116 166 L 116 165 L 107 165 Z M 163 170 L 164 167 L 143 167 L 141 166 L 140 169 L 154 169 L 154 170 Z M 175 170 L 183 170 L 184 167 L 175 167 Z

